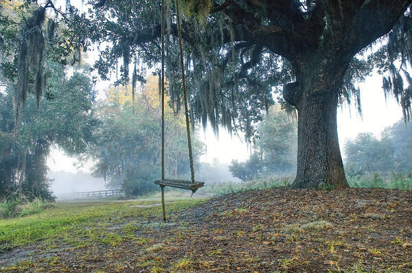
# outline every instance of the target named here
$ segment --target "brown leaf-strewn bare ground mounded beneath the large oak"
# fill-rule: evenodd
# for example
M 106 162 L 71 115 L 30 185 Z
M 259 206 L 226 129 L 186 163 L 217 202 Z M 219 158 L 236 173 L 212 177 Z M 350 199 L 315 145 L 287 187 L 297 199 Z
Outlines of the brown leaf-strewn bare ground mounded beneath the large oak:
M 243 191 L 130 223 L 116 246 L 8 250 L 0 271 L 412 272 L 411 191 Z

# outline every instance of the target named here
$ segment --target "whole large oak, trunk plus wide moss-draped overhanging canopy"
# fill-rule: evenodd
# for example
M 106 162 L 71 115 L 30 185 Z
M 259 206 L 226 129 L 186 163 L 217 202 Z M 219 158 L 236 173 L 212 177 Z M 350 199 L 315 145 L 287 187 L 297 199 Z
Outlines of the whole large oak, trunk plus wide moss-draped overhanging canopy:
M 46 32 L 39 29 L 47 10 L 56 14 L 48 21 L 67 25 L 63 40 L 69 41 L 71 51 L 98 44 L 100 58 L 94 67 L 103 79 L 119 70 L 117 84 L 127 84 L 131 76 L 132 95 L 135 84 L 144 82 L 146 69 L 159 69 L 160 1 L 90 0 L 86 2 L 89 10 L 83 13 L 69 3 L 67 12 L 56 9 L 52 1 L 36 3 L 38 7 L 19 32 L 27 39 L 20 38 L 14 58 L 15 67 L 20 66 L 15 76 L 18 104 L 25 94 L 21 79 L 27 79 L 31 67 L 39 67 L 33 70 L 34 86 L 41 82 Z M 168 93 L 170 103 L 179 110 L 176 9 L 173 1 L 164 3 Z M 250 139 L 275 99 L 284 108 L 297 110 L 294 187 L 348 187 L 336 107 L 355 102 L 361 110 L 356 80 L 374 69 L 384 76 L 385 94 L 398 99 L 406 120 L 411 116 L 410 0 L 186 0 L 182 4 L 192 123 L 210 122 L 216 132 L 222 124 L 229 130 L 243 130 Z M 67 48 L 57 44 L 59 49 Z M 41 50 L 28 60 L 25 52 L 31 47 Z

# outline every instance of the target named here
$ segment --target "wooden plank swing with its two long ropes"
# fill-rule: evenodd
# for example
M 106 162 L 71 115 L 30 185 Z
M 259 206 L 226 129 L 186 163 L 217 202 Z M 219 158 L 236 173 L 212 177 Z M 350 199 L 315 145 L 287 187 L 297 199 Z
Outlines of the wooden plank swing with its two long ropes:
M 186 119 L 186 132 L 187 132 L 187 150 L 189 150 L 190 160 L 190 175 L 191 180 L 177 180 L 177 179 L 165 179 L 165 0 L 161 1 L 161 179 L 156 180 L 155 184 L 160 185 L 161 188 L 161 205 L 163 208 L 163 221 L 166 222 L 166 209 L 165 209 L 165 187 L 174 187 L 179 189 L 189 189 L 193 193 L 198 188 L 203 187 L 205 182 L 198 182 L 194 180 L 194 167 L 193 167 L 193 155 L 192 155 L 192 141 L 190 139 L 190 121 L 189 110 L 187 106 L 187 88 L 185 79 L 185 65 L 183 60 L 183 46 L 182 46 L 182 34 L 181 34 L 181 20 L 179 12 L 179 0 L 176 0 L 176 14 L 177 14 L 177 32 L 179 35 L 179 49 L 181 58 L 181 73 L 182 73 L 182 87 L 183 87 L 183 99 L 185 104 L 185 119 Z

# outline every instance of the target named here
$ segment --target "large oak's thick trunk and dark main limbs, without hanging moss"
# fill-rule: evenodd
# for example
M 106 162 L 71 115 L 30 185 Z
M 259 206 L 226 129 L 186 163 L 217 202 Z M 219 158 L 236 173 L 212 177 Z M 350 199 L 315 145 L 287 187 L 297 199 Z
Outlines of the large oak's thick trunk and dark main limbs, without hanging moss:
M 411 1 L 225 1 L 222 10 L 242 40 L 284 56 L 295 82 L 284 86 L 298 112 L 295 187 L 348 187 L 339 149 L 336 107 L 352 58 L 391 31 Z M 222 7 L 223 8 L 223 7 Z M 267 25 L 260 16 L 266 14 Z M 263 15 L 262 15 L 263 16 Z M 239 35 L 238 35 L 239 36 Z

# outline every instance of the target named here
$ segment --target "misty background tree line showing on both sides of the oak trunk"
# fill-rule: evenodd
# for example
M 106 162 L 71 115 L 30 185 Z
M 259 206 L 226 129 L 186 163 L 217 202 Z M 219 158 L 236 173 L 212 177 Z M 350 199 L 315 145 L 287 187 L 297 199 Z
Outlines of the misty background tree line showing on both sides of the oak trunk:
M 272 107 L 258 124 L 253 153 L 229 169 L 243 181 L 295 176 L 297 125 L 293 117 Z M 271 137 L 268 137 L 271 136 Z M 359 133 L 343 143 L 345 174 L 352 187 L 412 188 L 412 126 L 400 120 L 385 128 L 380 139 Z

